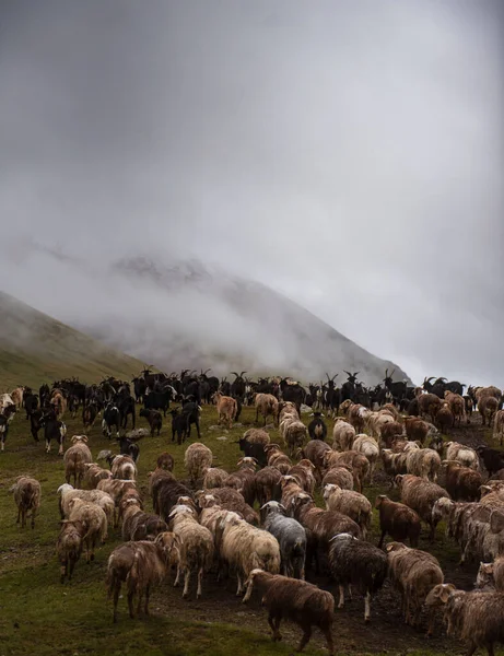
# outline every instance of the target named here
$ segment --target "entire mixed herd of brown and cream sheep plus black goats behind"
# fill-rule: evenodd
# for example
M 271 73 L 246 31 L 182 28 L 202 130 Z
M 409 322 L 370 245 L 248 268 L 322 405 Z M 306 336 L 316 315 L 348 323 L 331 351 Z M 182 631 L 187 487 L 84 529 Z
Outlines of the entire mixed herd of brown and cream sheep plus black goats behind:
M 19 387 L 1 395 L 2 450 L 10 423 L 24 410 L 33 437 L 38 441 L 43 430 L 46 450 L 56 440 L 63 456 L 61 582 L 71 578 L 83 552 L 87 562 L 94 559 L 110 527 L 120 528 L 124 543 L 107 566 L 114 621 L 122 585 L 133 618 L 149 612 L 152 587 L 172 570 L 175 585 L 184 583 L 184 597 L 196 577 L 198 598 L 204 575 L 214 570 L 218 579 L 236 576 L 244 601 L 260 591 L 274 641 L 281 639 L 282 619 L 290 619 L 303 631 L 300 651 L 317 626 L 335 654 L 335 597 L 306 581 L 315 571 L 328 574 L 338 608 L 347 589 L 359 589 L 366 622 L 373 597 L 389 579 L 408 624 L 419 626 L 426 611 L 431 634 L 444 609 L 447 634 L 467 641 L 469 656 L 478 647 L 492 656 L 494 644 L 504 643 L 504 454 L 483 444 L 473 449 L 445 442 L 441 433 L 467 425 L 478 410 L 502 446 L 503 393 L 469 387 L 464 395 L 465 386 L 444 378 L 410 387 L 394 383 L 388 372 L 382 386 L 367 389 L 358 382 L 359 372 L 347 373 L 339 388 L 329 375 L 327 384 L 305 388 L 289 378 L 253 382 L 245 372 L 228 383 L 208 372 L 167 376 L 145 368 L 132 387 L 114 378 L 89 386 L 67 379 L 52 388 L 43 385 L 38 394 Z M 139 403 L 148 431 L 136 429 Z M 219 424 L 226 429 L 243 406 L 256 410 L 256 426 L 238 441 L 243 457 L 235 471 L 214 467 L 211 448 L 201 442 L 206 403 L 215 405 Z M 65 450 L 67 412 L 73 418 L 82 412 L 84 433 L 99 419 L 104 436 L 115 434 L 120 455 L 102 450 L 95 461 L 85 434 L 74 435 Z M 305 412 L 313 417 L 308 425 L 302 421 Z M 200 441 L 185 450 L 185 482 L 173 473 L 173 456 L 159 455 L 149 473 L 153 513 L 148 513 L 138 488 L 138 438 L 159 435 L 167 413 L 172 441 L 189 438 L 191 425 Z M 324 413 L 335 420 L 331 430 Z M 132 430 L 126 433 L 128 421 Z M 372 504 L 366 496 L 378 467 L 400 501 L 380 494 Z M 40 483 L 19 477 L 11 492 L 17 522 L 24 528 L 30 517 L 34 527 Z M 317 505 L 318 494 L 325 507 Z M 377 544 L 370 537 L 373 506 L 379 518 Z M 481 562 L 472 591 L 445 582 L 437 559 L 418 549 L 422 527 L 432 543 L 441 520 L 460 549 L 460 562 Z M 387 536 L 392 541 L 384 546 Z

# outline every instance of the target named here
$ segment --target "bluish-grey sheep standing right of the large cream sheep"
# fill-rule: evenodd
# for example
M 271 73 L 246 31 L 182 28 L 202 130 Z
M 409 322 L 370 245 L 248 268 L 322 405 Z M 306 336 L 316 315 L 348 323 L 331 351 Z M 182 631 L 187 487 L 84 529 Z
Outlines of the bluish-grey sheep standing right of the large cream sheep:
M 263 528 L 274 536 L 280 546 L 281 573 L 294 578 L 305 577 L 306 531 L 277 501 L 269 501 L 261 511 L 266 512 Z

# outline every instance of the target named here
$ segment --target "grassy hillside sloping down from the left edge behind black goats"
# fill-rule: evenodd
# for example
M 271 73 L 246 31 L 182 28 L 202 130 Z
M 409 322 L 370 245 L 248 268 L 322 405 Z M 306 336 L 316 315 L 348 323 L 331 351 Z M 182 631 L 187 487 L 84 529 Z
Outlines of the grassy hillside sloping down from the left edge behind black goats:
M 0 292 L 0 385 L 37 387 L 78 376 L 83 382 L 130 378 L 142 363 Z

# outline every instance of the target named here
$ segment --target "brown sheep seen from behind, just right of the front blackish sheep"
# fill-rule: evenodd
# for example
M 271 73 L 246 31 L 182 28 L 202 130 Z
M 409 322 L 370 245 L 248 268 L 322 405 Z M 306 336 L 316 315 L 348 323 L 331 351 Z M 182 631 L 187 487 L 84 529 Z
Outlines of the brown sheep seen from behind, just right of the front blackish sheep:
M 386 552 L 390 578 L 401 594 L 406 623 L 414 626 L 429 593 L 444 583 L 443 571 L 434 555 L 402 542 L 390 542 Z

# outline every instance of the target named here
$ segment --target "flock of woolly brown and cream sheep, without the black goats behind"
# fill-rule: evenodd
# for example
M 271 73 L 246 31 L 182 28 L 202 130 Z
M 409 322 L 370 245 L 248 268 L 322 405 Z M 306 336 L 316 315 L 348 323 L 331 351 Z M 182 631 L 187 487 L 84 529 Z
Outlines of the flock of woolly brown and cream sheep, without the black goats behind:
M 492 421 L 502 442 L 501 390 L 479 388 L 477 395 L 483 417 L 488 399 L 496 399 Z M 104 468 L 93 461 L 87 437 L 74 435 L 63 455 L 66 483 L 58 490 L 61 581 L 71 578 L 83 552 L 87 562 L 94 559 L 109 527 L 120 527 L 124 543 L 114 549 L 107 566 L 114 621 L 122 585 L 133 618 L 149 612 L 152 587 L 172 570 L 174 585 L 184 583 L 184 597 L 196 578 L 198 598 L 206 574 L 215 570 L 219 578 L 236 576 L 236 594 L 244 601 L 253 590 L 261 593 L 273 640 L 281 637 L 282 619 L 290 619 L 303 631 L 300 651 L 317 626 L 333 654 L 335 598 L 306 581 L 307 572 L 323 567 L 338 588 L 338 608 L 345 590 L 359 589 L 364 620 L 370 621 L 373 596 L 390 579 L 408 624 L 419 626 L 426 610 L 432 633 L 434 618 L 444 609 L 448 635 L 466 640 L 469 654 L 485 647 L 493 655 L 494 643 L 504 642 L 504 456 L 485 446 L 474 450 L 444 443 L 426 421 L 432 410 L 423 401 L 427 396 L 418 396 L 419 417 L 402 417 L 389 403 L 374 411 L 347 401 L 328 444 L 319 414 L 308 430 L 295 403 L 257 395 L 256 422 L 259 414 L 265 424 L 272 417 L 280 444 L 266 429 L 249 429 L 239 441 L 245 455 L 228 472 L 212 467 L 214 457 L 206 444 L 192 443 L 185 452 L 186 483 L 174 477 L 173 457 L 161 454 L 149 475 L 153 513 L 144 511 L 132 457 L 105 452 L 101 457 L 109 467 Z M 452 394 L 446 402 L 466 420 L 457 397 Z M 235 399 L 218 395 L 215 402 L 220 422 L 232 426 Z M 368 540 L 373 504 L 364 492 L 378 464 L 400 502 L 384 494 L 375 500 L 380 529 L 375 546 Z M 11 491 L 17 522 L 24 528 L 30 516 L 34 527 L 39 482 L 23 476 Z M 318 491 L 325 507 L 316 503 Z M 434 541 L 441 520 L 459 546 L 461 562 L 482 561 L 480 589 L 456 589 L 445 582 L 436 558 L 418 549 L 422 526 Z M 386 536 L 392 541 L 384 548 Z

